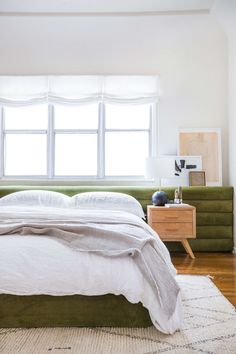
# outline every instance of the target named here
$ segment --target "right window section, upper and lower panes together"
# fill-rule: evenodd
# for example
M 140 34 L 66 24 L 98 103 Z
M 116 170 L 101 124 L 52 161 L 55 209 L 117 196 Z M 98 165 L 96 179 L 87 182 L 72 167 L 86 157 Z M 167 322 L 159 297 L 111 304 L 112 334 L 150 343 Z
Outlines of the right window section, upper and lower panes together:
M 149 156 L 150 105 L 106 105 L 105 175 L 144 175 Z

